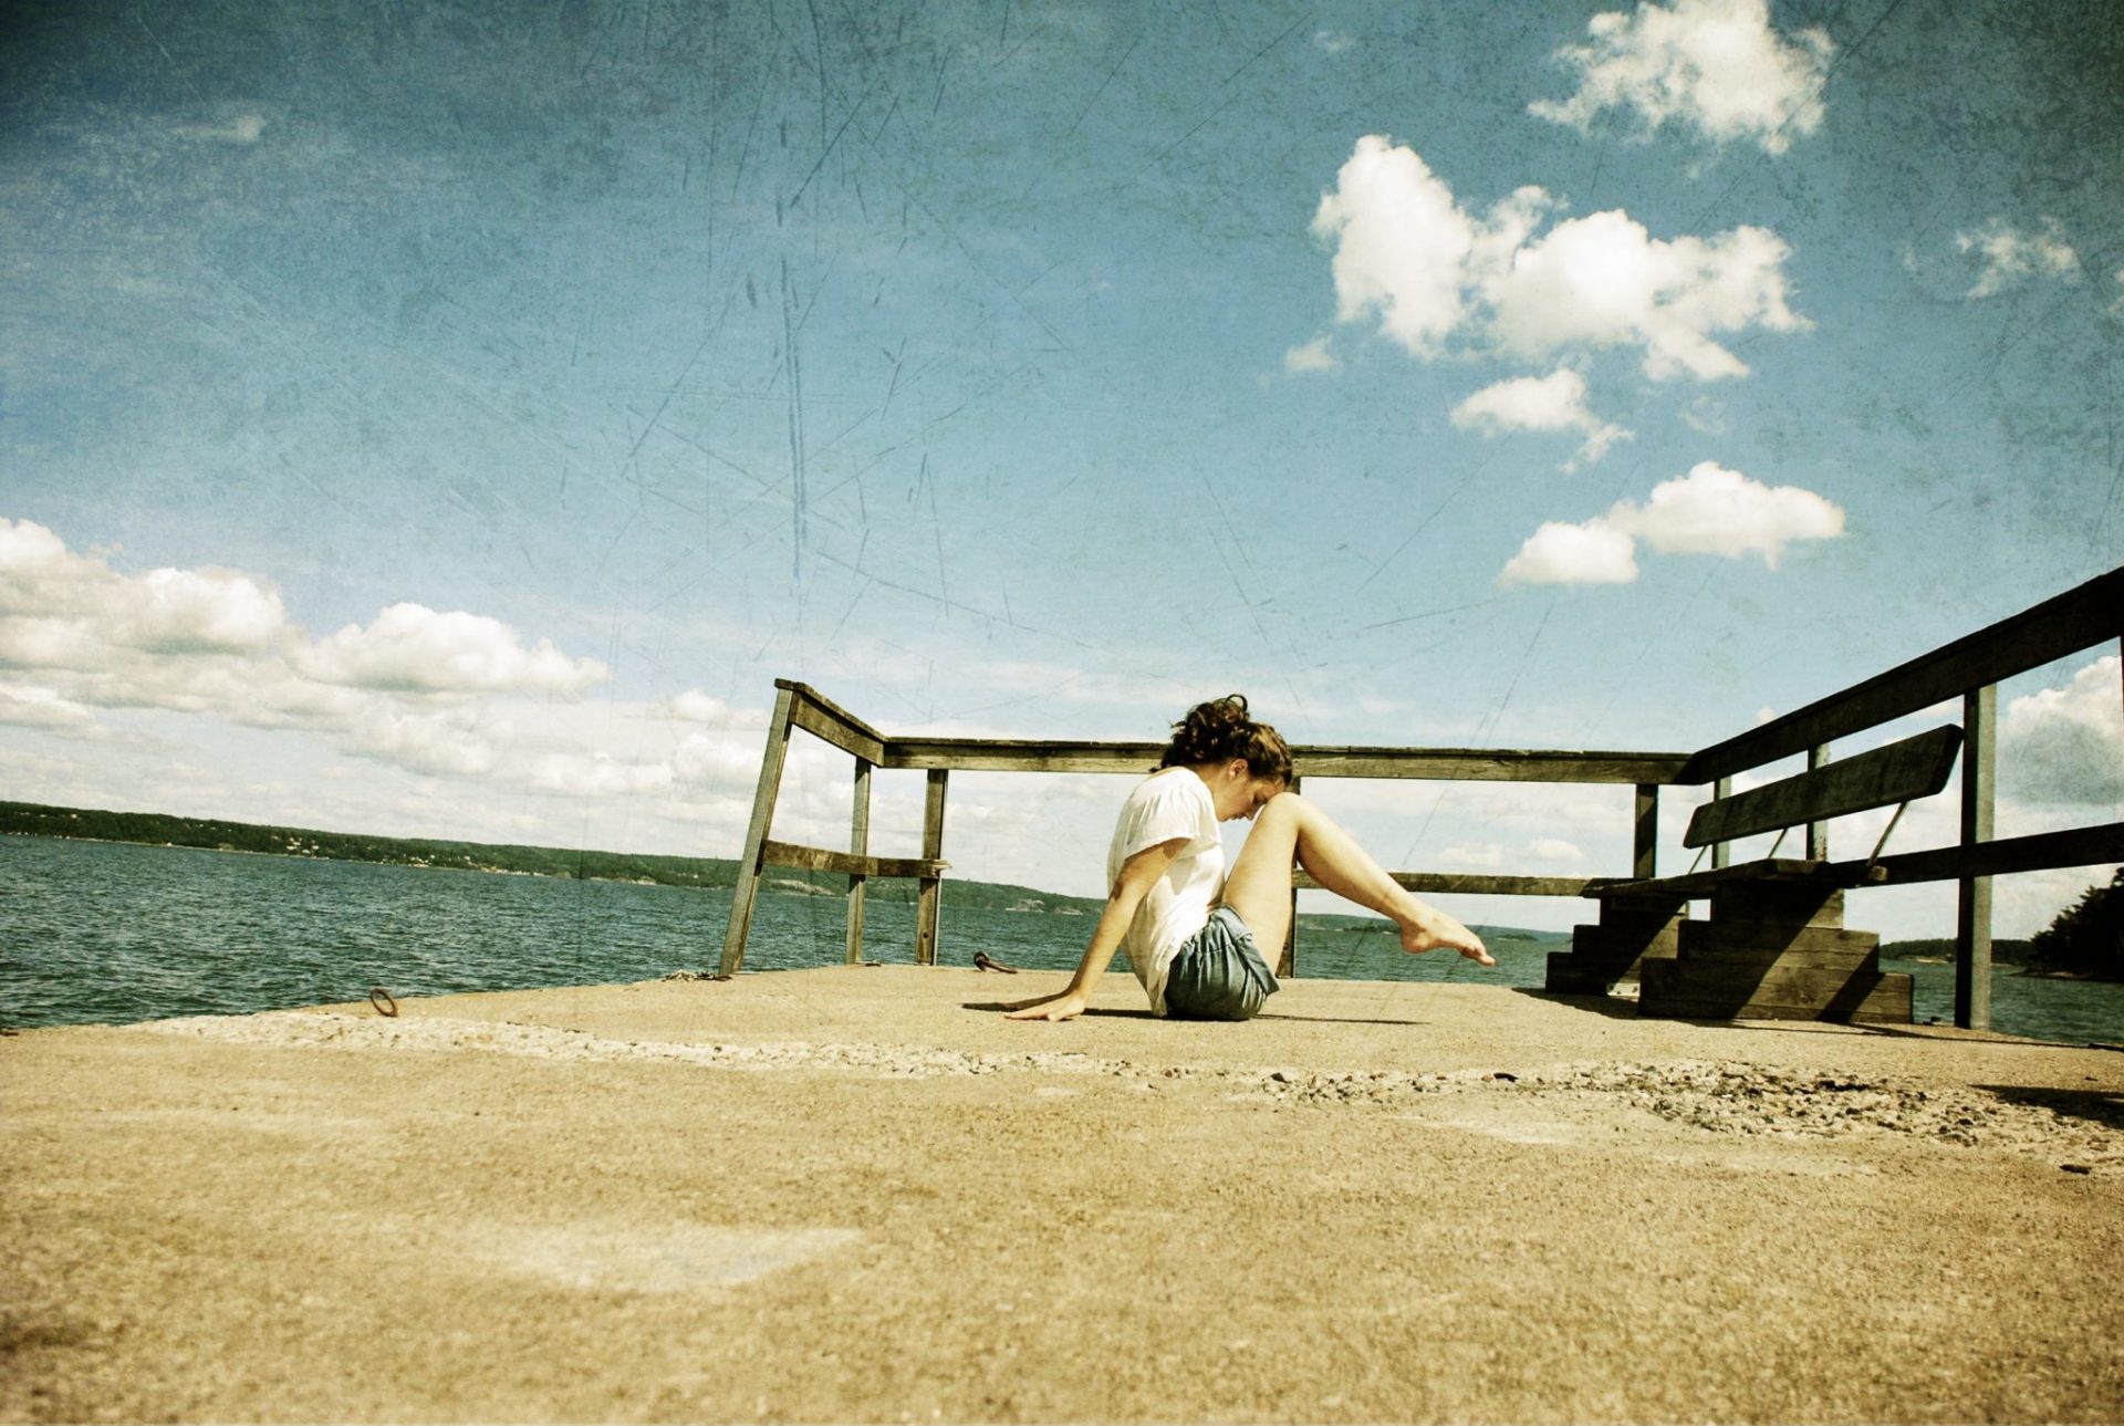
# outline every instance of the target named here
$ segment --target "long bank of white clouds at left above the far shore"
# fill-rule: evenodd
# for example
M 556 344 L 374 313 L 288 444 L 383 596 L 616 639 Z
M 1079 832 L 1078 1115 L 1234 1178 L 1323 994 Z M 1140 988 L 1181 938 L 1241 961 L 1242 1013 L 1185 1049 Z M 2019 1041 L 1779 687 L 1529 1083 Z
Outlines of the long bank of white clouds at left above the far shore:
M 616 797 L 673 788 L 673 714 L 741 723 L 703 693 L 639 708 L 641 735 L 607 752 L 597 733 L 556 733 L 569 699 L 610 678 L 550 640 L 527 644 L 497 618 L 382 610 L 312 640 L 266 582 L 219 567 L 125 574 L 79 555 L 51 529 L 0 519 L 0 723 L 68 737 L 108 737 L 110 710 L 204 714 L 227 725 L 297 731 L 340 752 L 423 776 Z M 523 699 L 535 716 L 510 718 Z M 561 699 L 561 701 L 554 701 Z M 599 710 L 601 720 L 610 710 Z M 720 733 L 703 733 L 716 737 Z M 714 782 L 697 771 L 686 795 Z M 756 750 L 754 750 L 756 761 Z M 729 771 L 731 759 L 722 759 Z M 737 782 L 735 776 L 724 782 Z M 720 786 L 720 784 L 718 784 Z

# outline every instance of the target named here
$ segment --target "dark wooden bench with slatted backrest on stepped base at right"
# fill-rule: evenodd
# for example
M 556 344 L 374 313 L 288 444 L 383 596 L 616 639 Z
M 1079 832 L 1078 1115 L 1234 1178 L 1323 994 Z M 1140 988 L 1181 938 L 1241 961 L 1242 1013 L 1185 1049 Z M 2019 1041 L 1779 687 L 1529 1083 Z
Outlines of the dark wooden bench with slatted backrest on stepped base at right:
M 1697 808 L 1684 846 L 1712 848 L 1833 816 L 1895 808 L 1867 861 L 1769 856 L 1708 871 L 1589 886 L 1599 922 L 1548 958 L 1548 988 L 1606 995 L 1638 982 L 1638 1012 L 1695 1020 L 1909 1024 L 1909 975 L 1880 969 L 1880 937 L 1844 927 L 1844 893 L 1882 880 L 1880 850 L 1903 808 L 1948 784 L 1958 727 L 1812 767 Z M 1710 901 L 1708 920 L 1689 903 Z

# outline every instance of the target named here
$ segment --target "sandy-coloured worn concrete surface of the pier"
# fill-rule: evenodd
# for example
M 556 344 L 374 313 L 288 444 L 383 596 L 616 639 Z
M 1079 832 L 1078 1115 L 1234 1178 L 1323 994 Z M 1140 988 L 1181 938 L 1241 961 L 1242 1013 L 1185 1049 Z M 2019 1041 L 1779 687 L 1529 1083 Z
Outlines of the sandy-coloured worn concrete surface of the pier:
M 2120 1054 L 1058 982 L 0 1037 L 0 1415 L 2124 1417 Z

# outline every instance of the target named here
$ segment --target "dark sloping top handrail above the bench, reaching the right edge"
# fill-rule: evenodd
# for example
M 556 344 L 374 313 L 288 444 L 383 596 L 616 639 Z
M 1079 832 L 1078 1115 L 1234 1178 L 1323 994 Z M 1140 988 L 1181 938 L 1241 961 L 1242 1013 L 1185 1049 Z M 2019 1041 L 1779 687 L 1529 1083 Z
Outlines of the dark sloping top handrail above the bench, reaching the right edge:
M 1771 718 L 1689 759 L 1678 782 L 1710 782 L 1958 699 L 2124 633 L 2124 567 L 2001 618 L 1886 674 Z

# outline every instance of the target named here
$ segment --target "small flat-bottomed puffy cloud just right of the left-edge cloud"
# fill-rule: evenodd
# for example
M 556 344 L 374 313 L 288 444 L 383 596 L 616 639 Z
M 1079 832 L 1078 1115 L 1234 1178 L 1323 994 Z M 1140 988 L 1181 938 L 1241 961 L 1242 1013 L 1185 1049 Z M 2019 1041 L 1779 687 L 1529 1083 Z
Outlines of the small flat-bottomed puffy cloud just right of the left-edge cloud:
M 569 659 L 550 640 L 525 648 L 499 618 L 421 604 L 393 604 L 367 629 L 346 625 L 299 667 L 321 682 L 393 693 L 573 695 L 612 678 L 597 659 Z

